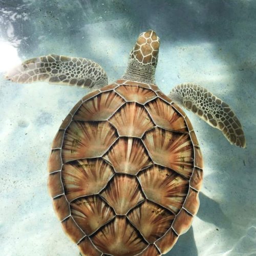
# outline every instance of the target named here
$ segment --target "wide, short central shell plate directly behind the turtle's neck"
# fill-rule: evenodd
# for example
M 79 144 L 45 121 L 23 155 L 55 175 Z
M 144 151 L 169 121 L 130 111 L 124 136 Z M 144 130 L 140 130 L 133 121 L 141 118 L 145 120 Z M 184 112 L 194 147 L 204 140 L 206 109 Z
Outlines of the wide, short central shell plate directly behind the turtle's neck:
M 156 98 L 152 90 L 147 90 L 139 86 L 119 86 L 116 90 L 126 101 L 135 101 L 140 104 Z

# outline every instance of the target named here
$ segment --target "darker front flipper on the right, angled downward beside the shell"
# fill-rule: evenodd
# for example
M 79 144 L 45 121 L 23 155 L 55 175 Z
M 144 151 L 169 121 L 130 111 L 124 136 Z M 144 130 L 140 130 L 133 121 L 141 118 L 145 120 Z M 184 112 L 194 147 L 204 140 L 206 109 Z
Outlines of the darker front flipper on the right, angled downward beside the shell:
M 184 83 L 176 86 L 169 97 L 187 110 L 192 111 L 212 127 L 222 131 L 231 144 L 246 146 L 242 125 L 229 105 L 197 84 Z

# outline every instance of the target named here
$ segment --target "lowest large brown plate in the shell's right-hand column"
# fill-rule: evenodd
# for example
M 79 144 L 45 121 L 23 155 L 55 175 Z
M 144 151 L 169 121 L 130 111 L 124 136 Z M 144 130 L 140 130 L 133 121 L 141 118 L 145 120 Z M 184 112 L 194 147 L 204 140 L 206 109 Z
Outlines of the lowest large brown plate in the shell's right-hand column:
M 161 206 L 145 201 L 127 215 L 148 243 L 154 243 L 172 225 L 175 215 Z

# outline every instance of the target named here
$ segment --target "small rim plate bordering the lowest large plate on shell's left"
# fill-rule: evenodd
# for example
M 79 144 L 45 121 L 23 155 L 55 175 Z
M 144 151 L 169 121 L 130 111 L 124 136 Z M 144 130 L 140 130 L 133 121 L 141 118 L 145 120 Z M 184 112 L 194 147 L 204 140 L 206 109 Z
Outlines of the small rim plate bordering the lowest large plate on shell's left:
M 64 232 L 76 244 L 85 236 L 84 232 L 77 226 L 72 217 L 63 220 L 61 225 Z

